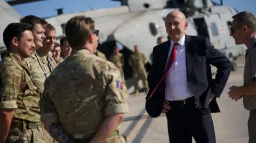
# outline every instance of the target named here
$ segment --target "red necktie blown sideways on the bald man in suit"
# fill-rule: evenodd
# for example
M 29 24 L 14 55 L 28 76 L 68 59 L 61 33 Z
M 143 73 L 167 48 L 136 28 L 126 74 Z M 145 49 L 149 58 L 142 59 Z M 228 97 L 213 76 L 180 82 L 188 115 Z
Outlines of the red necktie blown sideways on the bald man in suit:
M 159 83 L 157 84 L 157 86 L 155 87 L 155 89 L 151 92 L 150 96 L 148 97 L 151 98 L 151 96 L 154 94 L 154 92 L 156 91 L 156 88 L 160 85 L 160 83 L 165 79 L 165 77 L 167 76 L 167 73 L 169 72 L 169 70 L 171 69 L 171 66 L 172 66 L 172 63 L 174 62 L 175 60 L 175 57 L 176 57 L 176 54 L 177 54 L 177 46 L 178 46 L 178 43 L 174 43 L 174 47 L 172 48 L 172 53 L 169 57 L 169 60 L 168 60 L 168 63 L 166 65 L 166 69 L 165 69 L 165 73 L 162 77 L 162 79 L 159 81 Z M 148 100 L 147 99 L 147 100 Z

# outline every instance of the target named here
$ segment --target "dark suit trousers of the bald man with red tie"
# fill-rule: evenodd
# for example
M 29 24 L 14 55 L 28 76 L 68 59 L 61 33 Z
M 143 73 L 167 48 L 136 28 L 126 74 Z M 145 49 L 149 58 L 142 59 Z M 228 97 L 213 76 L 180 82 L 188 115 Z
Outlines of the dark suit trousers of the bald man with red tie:
M 166 113 L 170 143 L 215 143 L 215 132 L 209 108 L 196 108 L 194 102 L 170 102 Z

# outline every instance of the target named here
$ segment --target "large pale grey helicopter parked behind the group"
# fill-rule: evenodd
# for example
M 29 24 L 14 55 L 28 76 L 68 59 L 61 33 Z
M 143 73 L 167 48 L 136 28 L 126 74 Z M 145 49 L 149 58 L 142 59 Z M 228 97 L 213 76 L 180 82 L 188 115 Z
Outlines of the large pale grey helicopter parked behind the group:
M 128 58 L 133 53 L 134 46 L 139 45 L 140 51 L 146 55 L 146 68 L 149 70 L 156 39 L 163 37 L 167 40 L 166 15 L 173 10 L 180 10 L 189 23 L 186 34 L 209 38 L 215 48 L 233 61 L 233 71 L 237 70 L 236 58 L 244 54 L 246 47 L 236 45 L 233 37 L 229 36 L 233 21 L 231 17 L 238 13 L 233 7 L 223 5 L 222 1 L 218 4 L 210 0 L 111 1 L 119 1 L 121 6 L 68 14 L 63 14 L 62 9 L 58 9 L 57 16 L 45 20 L 55 27 L 57 39 L 60 39 L 65 37 L 65 24 L 70 18 L 76 15 L 91 17 L 95 21 L 95 28 L 100 30 L 99 51 L 108 59 L 114 46 L 118 45 L 124 55 L 125 78 L 131 78 L 132 68 L 128 64 Z

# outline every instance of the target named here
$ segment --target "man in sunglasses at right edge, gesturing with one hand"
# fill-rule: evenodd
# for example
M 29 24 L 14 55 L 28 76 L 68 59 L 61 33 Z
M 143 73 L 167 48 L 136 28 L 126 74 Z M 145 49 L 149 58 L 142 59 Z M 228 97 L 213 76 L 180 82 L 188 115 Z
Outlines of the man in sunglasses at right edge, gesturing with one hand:
M 237 45 L 244 44 L 246 49 L 244 65 L 244 85 L 232 86 L 228 92 L 232 100 L 243 97 L 244 107 L 250 111 L 248 120 L 249 143 L 256 142 L 256 18 L 251 12 L 240 12 L 232 17 L 230 28 Z

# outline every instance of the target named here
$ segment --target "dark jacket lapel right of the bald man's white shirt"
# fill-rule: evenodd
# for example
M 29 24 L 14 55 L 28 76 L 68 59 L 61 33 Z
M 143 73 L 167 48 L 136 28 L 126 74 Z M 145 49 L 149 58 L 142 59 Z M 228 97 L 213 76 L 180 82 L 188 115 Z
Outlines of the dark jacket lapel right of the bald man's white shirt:
M 194 54 L 195 54 L 195 43 L 190 36 L 185 35 L 185 49 L 186 49 L 186 65 L 187 65 L 187 79 L 189 81 L 191 68 L 193 65 Z

